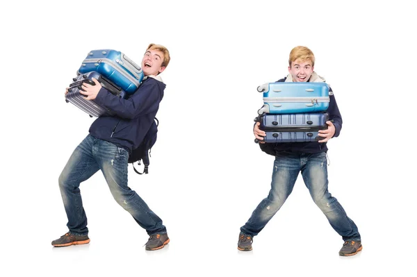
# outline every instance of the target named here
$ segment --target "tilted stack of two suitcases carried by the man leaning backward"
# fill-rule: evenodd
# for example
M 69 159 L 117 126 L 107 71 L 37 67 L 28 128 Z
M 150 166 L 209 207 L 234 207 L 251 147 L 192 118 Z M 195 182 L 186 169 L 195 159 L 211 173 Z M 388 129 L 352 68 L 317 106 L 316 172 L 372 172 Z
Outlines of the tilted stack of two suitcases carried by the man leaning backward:
M 72 79 L 65 101 L 74 104 L 90 117 L 113 115 L 94 100 L 86 100 L 79 91 L 83 83 L 95 85 L 92 78 L 97 79 L 102 87 L 109 92 L 126 99 L 138 89 L 143 79 L 140 66 L 136 65 L 124 53 L 112 49 L 93 50 L 83 60 L 77 71 L 76 78 Z

